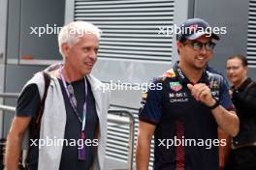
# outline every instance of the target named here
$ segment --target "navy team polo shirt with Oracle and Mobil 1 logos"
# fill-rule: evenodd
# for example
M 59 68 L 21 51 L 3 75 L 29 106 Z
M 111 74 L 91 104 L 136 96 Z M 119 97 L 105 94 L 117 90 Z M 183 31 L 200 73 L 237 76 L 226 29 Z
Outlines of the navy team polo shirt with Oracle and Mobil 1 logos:
M 155 125 L 154 170 L 216 170 L 218 164 L 217 123 L 211 110 L 191 96 L 189 79 L 178 65 L 155 78 L 143 95 L 139 119 Z M 206 83 L 212 96 L 234 109 L 221 75 L 204 71 L 198 83 Z

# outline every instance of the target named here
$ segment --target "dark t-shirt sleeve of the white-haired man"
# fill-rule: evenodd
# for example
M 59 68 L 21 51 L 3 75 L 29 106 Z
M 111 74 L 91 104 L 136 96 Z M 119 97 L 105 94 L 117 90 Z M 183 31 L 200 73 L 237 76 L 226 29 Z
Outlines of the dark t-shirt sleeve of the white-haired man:
M 16 116 L 34 117 L 40 101 L 41 99 L 37 85 L 28 85 L 17 99 Z

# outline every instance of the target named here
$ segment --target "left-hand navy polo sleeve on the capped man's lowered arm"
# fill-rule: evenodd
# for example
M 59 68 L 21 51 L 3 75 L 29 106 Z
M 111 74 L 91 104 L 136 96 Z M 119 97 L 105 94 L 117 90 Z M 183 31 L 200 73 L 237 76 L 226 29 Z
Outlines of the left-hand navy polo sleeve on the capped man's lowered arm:
M 149 84 L 147 92 L 143 93 L 141 108 L 139 111 L 140 121 L 157 125 L 162 115 L 162 83 L 157 79 Z

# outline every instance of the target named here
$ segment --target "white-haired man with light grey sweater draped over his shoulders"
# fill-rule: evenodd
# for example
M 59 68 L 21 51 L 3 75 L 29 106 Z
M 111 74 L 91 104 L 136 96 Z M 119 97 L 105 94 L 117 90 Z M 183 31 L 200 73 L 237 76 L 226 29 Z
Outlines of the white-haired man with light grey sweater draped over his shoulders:
M 45 70 L 50 82 L 40 131 L 31 137 L 34 135 L 31 122 L 45 92 L 42 72 L 26 83 L 17 101 L 7 140 L 7 170 L 18 168 L 21 141 L 27 128 L 30 128 L 29 169 L 105 169 L 110 95 L 90 74 L 97 61 L 99 39 L 100 30 L 88 22 L 71 22 L 61 29 L 58 43 L 63 64 Z

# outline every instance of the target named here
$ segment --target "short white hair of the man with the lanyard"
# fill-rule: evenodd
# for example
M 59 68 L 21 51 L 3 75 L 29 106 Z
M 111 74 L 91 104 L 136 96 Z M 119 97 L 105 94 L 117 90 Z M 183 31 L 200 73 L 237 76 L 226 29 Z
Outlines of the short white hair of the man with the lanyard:
M 86 21 L 73 21 L 61 28 L 58 35 L 59 52 L 63 56 L 61 45 L 67 43 L 69 46 L 79 42 L 84 34 L 94 34 L 98 40 L 101 38 L 101 30 Z M 64 56 L 63 56 L 64 58 Z

